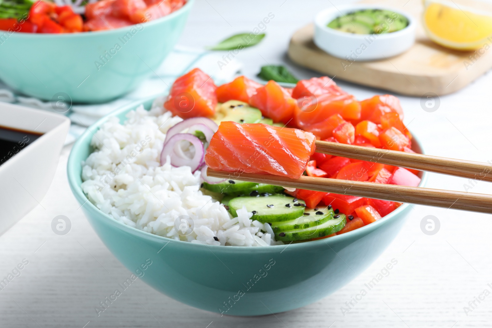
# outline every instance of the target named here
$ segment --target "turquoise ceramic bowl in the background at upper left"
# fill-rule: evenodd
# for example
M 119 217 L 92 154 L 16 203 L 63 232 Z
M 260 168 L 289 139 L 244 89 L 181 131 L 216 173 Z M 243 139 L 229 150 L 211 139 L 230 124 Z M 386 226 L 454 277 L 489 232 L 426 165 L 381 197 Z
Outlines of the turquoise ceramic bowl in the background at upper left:
M 192 4 L 188 0 L 168 16 L 116 30 L 0 31 L 0 79 L 44 100 L 57 98 L 60 92 L 82 103 L 117 98 L 154 74 L 178 42 Z

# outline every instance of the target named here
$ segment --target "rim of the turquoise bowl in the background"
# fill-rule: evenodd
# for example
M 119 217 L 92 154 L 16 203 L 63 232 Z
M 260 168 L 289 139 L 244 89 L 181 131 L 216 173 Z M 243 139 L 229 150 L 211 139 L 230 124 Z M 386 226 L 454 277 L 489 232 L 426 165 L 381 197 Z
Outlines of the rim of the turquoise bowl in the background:
M 74 38 L 83 38 L 83 37 L 91 37 L 92 35 L 108 35 L 108 34 L 114 34 L 114 33 L 121 33 L 126 30 L 131 30 L 132 28 L 135 28 L 135 26 L 141 24 L 144 26 L 144 29 L 146 26 L 153 26 L 159 23 L 162 23 L 167 20 L 171 20 L 176 16 L 180 16 L 187 11 L 189 11 L 191 5 L 193 4 L 195 0 L 186 0 L 186 3 L 184 4 L 183 7 L 179 8 L 176 11 L 173 11 L 172 13 L 157 18 L 155 20 L 149 21 L 149 22 L 144 22 L 144 23 L 137 23 L 137 24 L 132 24 L 128 26 L 124 26 L 121 28 L 116 28 L 116 29 L 110 29 L 110 30 L 99 30 L 99 31 L 82 31 L 82 32 L 76 32 L 76 33 L 30 33 L 30 32 L 16 32 L 13 31 L 9 37 L 12 37 L 13 35 L 17 35 L 17 37 L 24 37 L 24 38 L 36 38 L 36 37 L 41 37 L 41 38 L 68 38 L 68 37 L 74 37 Z M 0 31 L 1 32 L 1 31 Z M 3 31 L 3 32 L 8 32 L 8 31 Z

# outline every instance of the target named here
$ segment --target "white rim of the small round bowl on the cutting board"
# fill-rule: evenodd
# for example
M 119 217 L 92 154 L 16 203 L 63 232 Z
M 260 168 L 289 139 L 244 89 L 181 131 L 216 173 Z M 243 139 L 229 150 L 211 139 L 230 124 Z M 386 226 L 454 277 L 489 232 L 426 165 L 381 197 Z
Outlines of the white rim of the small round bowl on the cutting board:
M 391 32 L 391 33 L 381 33 L 381 34 L 377 34 L 377 33 L 372 33 L 372 34 L 347 33 L 347 32 L 342 32 L 339 30 L 329 28 L 327 26 L 327 24 L 330 23 L 331 20 L 340 16 L 340 13 L 343 15 L 347 12 L 350 12 L 353 10 L 358 10 L 358 9 L 390 10 L 390 11 L 396 12 L 397 14 L 400 14 L 401 16 L 406 17 L 406 19 L 408 20 L 408 25 L 401 30 Z M 332 15 L 329 15 L 329 14 L 332 14 Z M 327 15 L 329 15 L 329 17 L 331 17 L 331 18 L 326 18 Z M 320 11 L 318 14 L 316 14 L 316 16 L 314 18 L 314 25 L 316 26 L 316 28 L 318 30 L 323 31 L 324 33 L 337 35 L 340 37 L 346 37 L 346 38 L 352 39 L 352 40 L 363 40 L 368 35 L 373 35 L 373 34 L 376 34 L 378 36 L 378 39 L 394 39 L 394 38 L 402 37 L 407 33 L 412 33 L 412 30 L 415 29 L 415 19 L 410 14 L 405 13 L 405 12 L 403 12 L 397 8 L 391 7 L 391 6 L 380 5 L 380 4 L 369 4 L 369 3 L 367 3 L 367 4 L 354 3 L 354 4 L 343 4 L 343 5 L 340 5 L 338 7 L 327 8 L 327 9 Z

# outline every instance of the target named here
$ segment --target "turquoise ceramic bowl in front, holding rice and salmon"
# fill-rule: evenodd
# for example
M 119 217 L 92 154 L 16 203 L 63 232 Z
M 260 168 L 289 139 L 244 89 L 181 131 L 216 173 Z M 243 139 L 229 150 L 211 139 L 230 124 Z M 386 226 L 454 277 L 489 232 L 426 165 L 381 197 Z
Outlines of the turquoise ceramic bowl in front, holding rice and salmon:
M 115 111 L 125 114 L 142 101 Z M 149 109 L 152 99 L 143 101 Z M 206 246 L 131 228 L 87 201 L 81 162 L 107 117 L 75 143 L 68 159 L 70 187 L 92 227 L 123 265 L 165 295 L 190 306 L 227 315 L 254 316 L 292 310 L 324 298 L 376 260 L 396 237 L 409 212 L 404 204 L 355 231 L 304 243 L 269 247 Z M 418 142 L 414 150 L 422 151 Z M 425 183 L 426 174 L 421 185 Z M 146 266 L 146 261 L 152 265 Z M 143 270 L 142 265 L 145 270 Z M 143 274 L 143 275 L 142 275 Z

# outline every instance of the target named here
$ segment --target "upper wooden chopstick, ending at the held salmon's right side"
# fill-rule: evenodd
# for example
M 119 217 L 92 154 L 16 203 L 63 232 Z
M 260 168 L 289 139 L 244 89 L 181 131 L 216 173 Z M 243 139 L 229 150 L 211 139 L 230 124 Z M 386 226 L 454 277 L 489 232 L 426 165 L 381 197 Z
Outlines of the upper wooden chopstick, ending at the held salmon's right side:
M 316 141 L 316 152 L 462 178 L 492 181 L 492 165 L 389 149 Z

